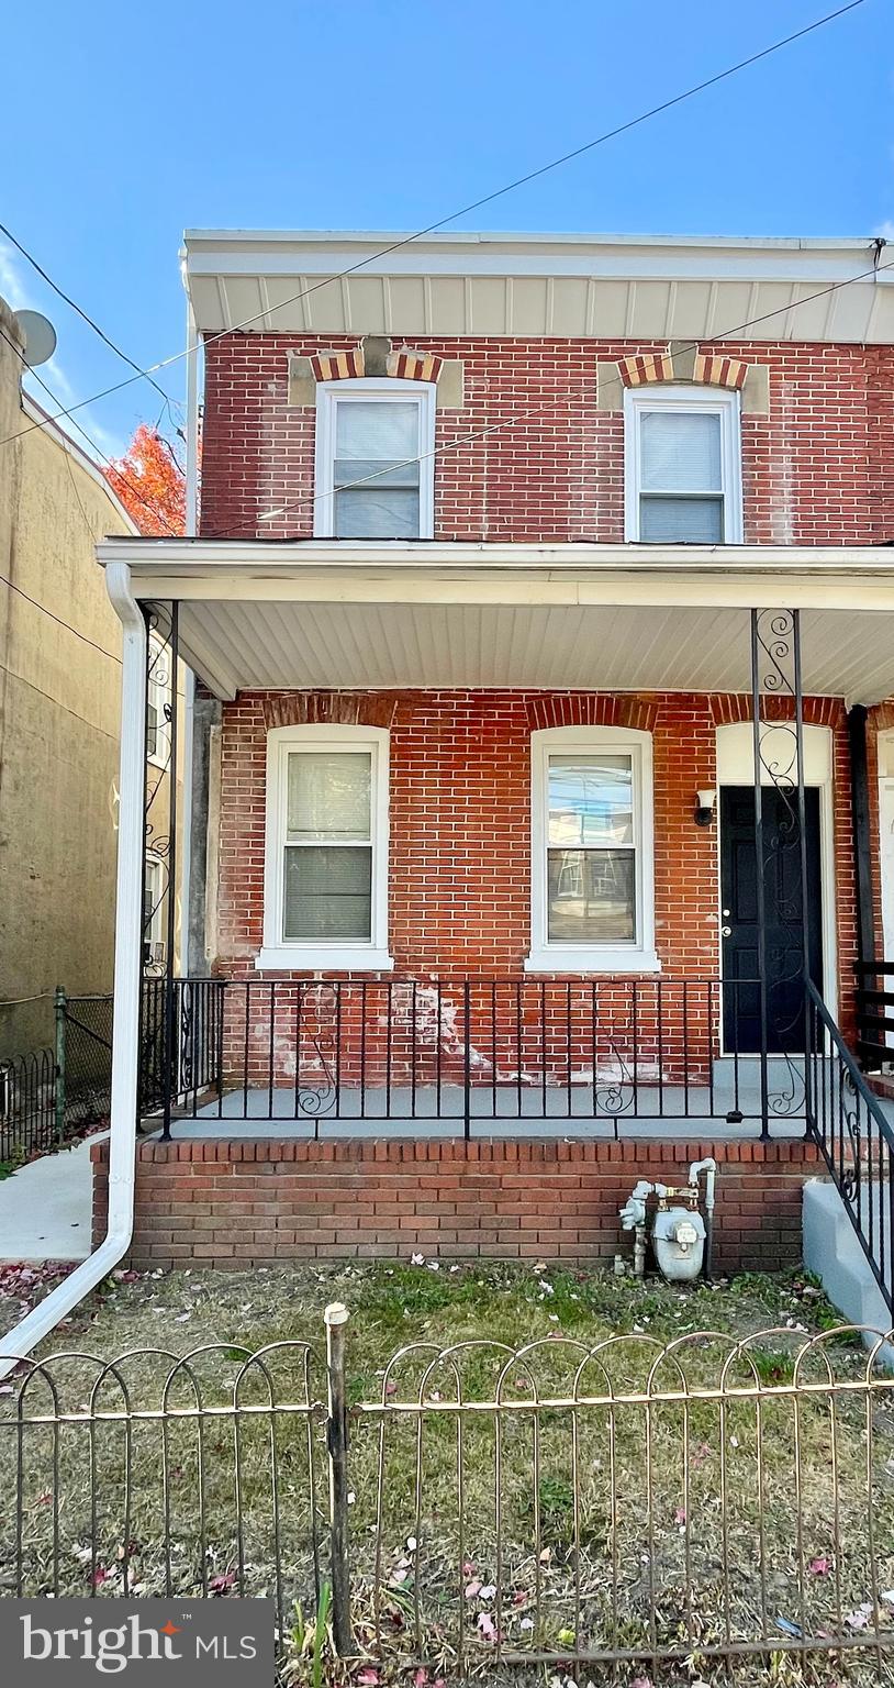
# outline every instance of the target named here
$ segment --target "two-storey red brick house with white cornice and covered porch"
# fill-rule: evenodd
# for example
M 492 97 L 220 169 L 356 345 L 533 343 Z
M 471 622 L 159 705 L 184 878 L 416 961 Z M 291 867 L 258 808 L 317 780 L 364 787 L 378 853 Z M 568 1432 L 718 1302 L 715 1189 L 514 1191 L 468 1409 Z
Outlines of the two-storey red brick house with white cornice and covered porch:
M 199 677 L 135 1252 L 614 1252 L 633 1134 L 776 1264 L 894 939 L 894 268 L 385 246 L 187 236 L 196 532 L 101 547 Z

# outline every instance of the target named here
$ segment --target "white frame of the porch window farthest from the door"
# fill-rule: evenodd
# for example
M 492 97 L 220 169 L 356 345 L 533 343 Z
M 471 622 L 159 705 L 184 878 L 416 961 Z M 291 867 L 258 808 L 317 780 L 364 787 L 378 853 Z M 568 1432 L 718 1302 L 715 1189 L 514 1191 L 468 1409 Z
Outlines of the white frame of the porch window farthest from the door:
M 294 749 L 368 751 L 371 756 L 373 885 L 369 896 L 371 937 L 366 944 L 344 944 L 342 940 L 307 944 L 300 939 L 283 939 L 287 782 L 288 753 Z M 388 954 L 388 751 L 390 734 L 385 728 L 297 726 L 272 728 L 267 734 L 263 947 L 255 960 L 258 969 L 380 972 L 395 966 Z

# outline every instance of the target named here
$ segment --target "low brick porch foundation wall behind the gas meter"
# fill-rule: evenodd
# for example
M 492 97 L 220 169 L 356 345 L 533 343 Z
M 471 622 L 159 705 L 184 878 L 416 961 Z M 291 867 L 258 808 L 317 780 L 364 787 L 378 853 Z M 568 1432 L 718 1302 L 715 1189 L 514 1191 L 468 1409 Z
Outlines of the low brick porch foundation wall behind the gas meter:
M 806 1143 L 530 1143 L 398 1139 L 142 1143 L 135 1266 L 273 1266 L 302 1259 L 611 1259 L 631 1252 L 617 1210 L 638 1178 L 685 1183 L 719 1163 L 715 1264 L 801 1259 Z M 105 1234 L 108 1144 L 91 1150 L 93 1231 Z

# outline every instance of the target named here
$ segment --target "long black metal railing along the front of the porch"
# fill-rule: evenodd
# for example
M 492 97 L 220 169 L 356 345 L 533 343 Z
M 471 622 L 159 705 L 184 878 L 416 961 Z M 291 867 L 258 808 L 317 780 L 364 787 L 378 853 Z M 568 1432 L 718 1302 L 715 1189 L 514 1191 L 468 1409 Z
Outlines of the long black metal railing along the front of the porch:
M 216 1119 L 604 1124 L 761 1117 L 751 979 L 164 979 L 143 1011 L 143 1111 Z M 732 1048 L 722 1050 L 724 1025 Z M 800 1048 L 803 1048 L 803 1028 Z M 798 1040 L 796 1040 L 798 1047 Z M 806 1124 L 803 1057 L 771 1119 Z

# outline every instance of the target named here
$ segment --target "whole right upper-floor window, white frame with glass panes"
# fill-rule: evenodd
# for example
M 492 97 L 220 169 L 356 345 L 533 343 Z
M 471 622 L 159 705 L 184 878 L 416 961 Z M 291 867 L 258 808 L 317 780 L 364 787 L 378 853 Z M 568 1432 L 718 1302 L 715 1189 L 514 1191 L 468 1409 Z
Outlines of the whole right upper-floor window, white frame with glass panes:
M 646 545 L 742 540 L 739 393 L 624 395 L 626 537 Z

